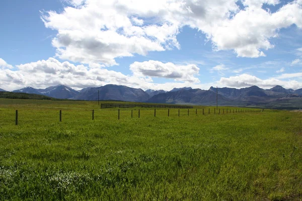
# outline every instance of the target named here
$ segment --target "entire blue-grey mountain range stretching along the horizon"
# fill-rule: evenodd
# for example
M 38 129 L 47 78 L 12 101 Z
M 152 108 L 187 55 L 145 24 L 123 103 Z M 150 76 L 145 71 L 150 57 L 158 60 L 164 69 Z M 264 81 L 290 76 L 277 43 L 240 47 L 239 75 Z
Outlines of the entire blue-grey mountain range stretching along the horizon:
M 99 98 L 100 100 L 122 100 L 127 102 L 212 106 L 216 105 L 217 95 L 219 106 L 253 106 L 284 109 L 302 107 L 302 88 L 296 90 L 285 89 L 279 85 L 270 89 L 262 89 L 258 86 L 240 89 L 210 87 L 208 90 L 184 87 L 173 88 L 171 91 L 152 89 L 143 91 L 140 88 L 114 84 L 88 87 L 77 91 L 68 86 L 57 85 L 45 89 L 25 87 L 13 92 L 81 100 L 98 100 Z

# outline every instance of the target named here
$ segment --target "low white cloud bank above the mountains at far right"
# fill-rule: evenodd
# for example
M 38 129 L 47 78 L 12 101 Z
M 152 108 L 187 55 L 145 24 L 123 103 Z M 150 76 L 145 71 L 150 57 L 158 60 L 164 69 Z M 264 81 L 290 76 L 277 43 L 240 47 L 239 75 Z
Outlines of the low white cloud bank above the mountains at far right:
M 260 79 L 253 75 L 241 74 L 238 76 L 231 76 L 229 78 L 221 77 L 218 83 L 222 86 L 229 86 L 235 88 L 249 87 L 253 85 L 259 86 L 261 88 L 271 88 L 276 85 L 281 85 L 284 88 L 292 88 L 292 89 L 302 88 L 301 82 L 298 82 L 296 80 L 289 80 L 289 81 L 280 80 L 282 78 L 289 78 L 289 76 L 288 77 L 279 76 L 276 78 Z

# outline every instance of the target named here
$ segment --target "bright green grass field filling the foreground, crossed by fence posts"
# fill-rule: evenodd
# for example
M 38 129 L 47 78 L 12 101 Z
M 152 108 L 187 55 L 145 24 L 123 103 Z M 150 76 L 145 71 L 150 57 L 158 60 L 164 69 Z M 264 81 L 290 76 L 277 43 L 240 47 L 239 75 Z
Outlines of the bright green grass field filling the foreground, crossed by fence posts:
M 0 99 L 0 200 L 302 199 L 302 113 L 208 108 Z

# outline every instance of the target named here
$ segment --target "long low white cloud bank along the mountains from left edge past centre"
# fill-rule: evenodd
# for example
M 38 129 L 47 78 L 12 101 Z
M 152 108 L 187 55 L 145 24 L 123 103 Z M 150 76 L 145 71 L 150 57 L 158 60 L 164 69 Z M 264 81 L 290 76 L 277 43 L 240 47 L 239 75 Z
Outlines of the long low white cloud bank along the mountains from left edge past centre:
M 8 64 L 7 64 L 8 65 Z M 199 68 L 192 64 L 175 65 L 160 61 L 134 62 L 130 69 L 132 75 L 108 70 L 74 65 L 68 61 L 60 62 L 54 58 L 25 63 L 16 66 L 17 70 L 0 68 L 0 86 L 15 90 L 24 86 L 44 88 L 64 84 L 73 88 L 96 87 L 105 84 L 119 84 L 143 89 L 171 90 L 173 87 L 209 87 L 199 84 Z M 154 83 L 152 77 L 172 78 L 174 82 Z M 176 82 L 175 82 L 176 81 Z

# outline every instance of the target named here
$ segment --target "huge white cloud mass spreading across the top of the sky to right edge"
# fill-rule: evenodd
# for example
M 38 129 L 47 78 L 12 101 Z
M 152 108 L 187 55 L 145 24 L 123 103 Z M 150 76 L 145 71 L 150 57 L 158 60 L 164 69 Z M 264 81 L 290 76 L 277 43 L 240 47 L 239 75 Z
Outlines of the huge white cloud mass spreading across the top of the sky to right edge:
M 117 65 L 116 58 L 146 55 L 150 51 L 180 48 L 176 36 L 184 26 L 198 29 L 214 50 L 233 50 L 239 57 L 265 56 L 270 38 L 295 24 L 302 28 L 300 1 L 275 13 L 263 4 L 277 0 L 65 0 L 73 7 L 63 12 L 42 12 L 47 28 L 57 31 L 52 40 L 56 56 L 73 62 Z

